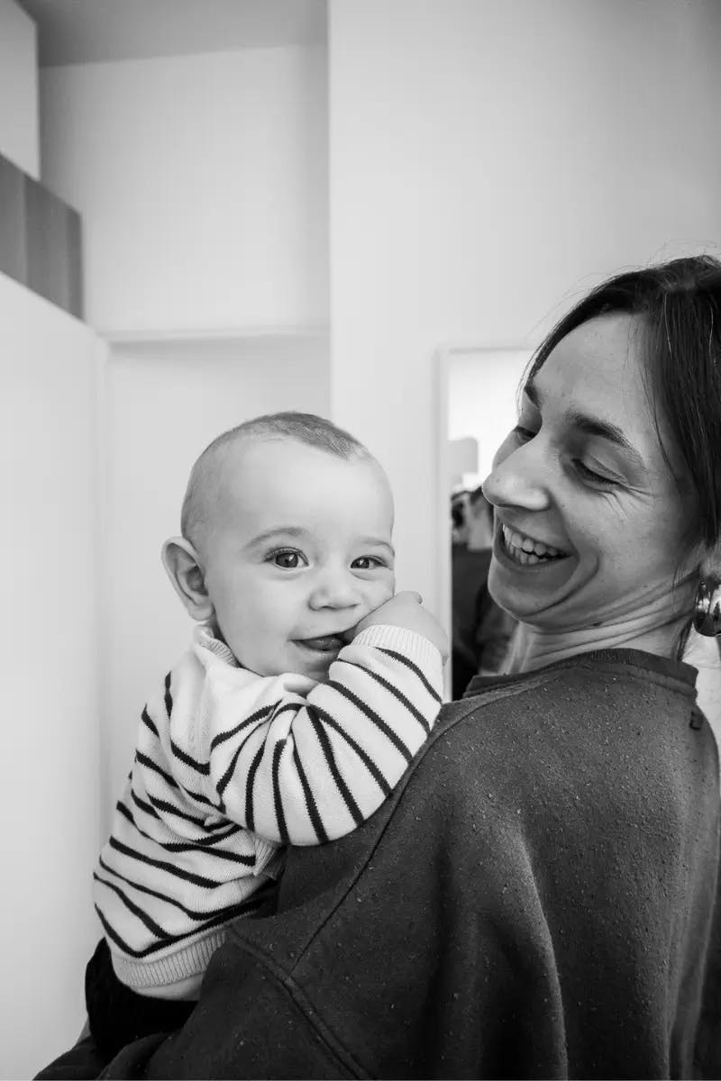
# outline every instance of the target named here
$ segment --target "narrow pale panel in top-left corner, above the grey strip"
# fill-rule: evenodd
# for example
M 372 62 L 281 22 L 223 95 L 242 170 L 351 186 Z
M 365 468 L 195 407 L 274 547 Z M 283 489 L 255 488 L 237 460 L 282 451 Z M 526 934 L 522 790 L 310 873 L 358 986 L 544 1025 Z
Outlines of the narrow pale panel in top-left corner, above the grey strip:
M 40 178 L 38 35 L 15 0 L 0 0 L 0 154 Z

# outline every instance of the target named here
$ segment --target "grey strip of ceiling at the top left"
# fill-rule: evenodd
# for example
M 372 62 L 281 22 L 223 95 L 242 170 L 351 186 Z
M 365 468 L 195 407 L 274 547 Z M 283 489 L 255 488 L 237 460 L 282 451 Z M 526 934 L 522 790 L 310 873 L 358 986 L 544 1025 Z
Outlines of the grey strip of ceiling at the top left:
M 18 0 L 41 67 L 324 43 L 326 0 Z

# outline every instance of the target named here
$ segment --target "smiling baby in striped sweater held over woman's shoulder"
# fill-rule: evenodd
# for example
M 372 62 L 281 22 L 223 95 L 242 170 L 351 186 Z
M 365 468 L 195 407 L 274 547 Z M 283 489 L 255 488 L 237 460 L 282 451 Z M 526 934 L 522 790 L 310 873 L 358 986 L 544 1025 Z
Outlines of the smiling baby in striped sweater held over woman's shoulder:
M 249 421 L 196 462 L 162 558 L 200 626 L 143 710 L 94 875 L 136 995 L 196 999 L 282 845 L 355 829 L 428 737 L 448 641 L 393 596 L 392 521 L 378 463 L 317 416 Z

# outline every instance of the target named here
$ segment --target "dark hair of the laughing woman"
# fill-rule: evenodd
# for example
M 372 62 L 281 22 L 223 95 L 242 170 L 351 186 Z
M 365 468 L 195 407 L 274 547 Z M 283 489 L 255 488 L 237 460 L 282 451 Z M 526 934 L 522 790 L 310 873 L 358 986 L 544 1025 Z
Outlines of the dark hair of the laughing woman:
M 525 379 L 572 330 L 616 311 L 640 317 L 656 430 L 662 415 L 687 470 L 689 548 L 710 547 L 721 535 L 721 262 L 694 255 L 609 278 L 556 324 Z

